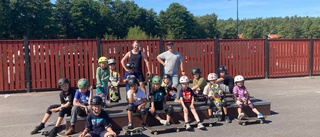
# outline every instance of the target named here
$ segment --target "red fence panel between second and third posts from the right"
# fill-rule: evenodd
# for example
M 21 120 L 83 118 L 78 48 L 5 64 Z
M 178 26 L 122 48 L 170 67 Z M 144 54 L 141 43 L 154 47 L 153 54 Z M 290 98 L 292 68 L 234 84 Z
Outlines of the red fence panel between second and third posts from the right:
M 264 77 L 264 39 L 220 40 L 220 64 L 231 76 Z

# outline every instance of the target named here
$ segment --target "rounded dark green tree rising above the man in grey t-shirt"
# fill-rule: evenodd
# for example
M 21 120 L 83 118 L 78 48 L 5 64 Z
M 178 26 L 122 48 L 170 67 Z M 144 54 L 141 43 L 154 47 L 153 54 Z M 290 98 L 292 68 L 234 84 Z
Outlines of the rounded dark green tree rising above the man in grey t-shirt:
M 166 11 L 159 15 L 163 34 L 168 39 L 193 38 L 196 21 L 186 7 L 179 3 L 172 3 Z

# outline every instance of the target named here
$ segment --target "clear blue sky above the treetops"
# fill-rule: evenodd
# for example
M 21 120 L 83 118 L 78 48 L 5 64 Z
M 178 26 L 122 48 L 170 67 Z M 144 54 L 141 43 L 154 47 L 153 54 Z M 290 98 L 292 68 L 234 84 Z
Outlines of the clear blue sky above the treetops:
M 51 0 L 55 1 L 55 0 Z M 157 13 L 173 2 L 180 3 L 195 16 L 215 13 L 218 19 L 237 18 L 237 0 L 134 0 L 140 7 Z M 310 16 L 320 17 L 320 0 L 238 0 L 239 19 Z

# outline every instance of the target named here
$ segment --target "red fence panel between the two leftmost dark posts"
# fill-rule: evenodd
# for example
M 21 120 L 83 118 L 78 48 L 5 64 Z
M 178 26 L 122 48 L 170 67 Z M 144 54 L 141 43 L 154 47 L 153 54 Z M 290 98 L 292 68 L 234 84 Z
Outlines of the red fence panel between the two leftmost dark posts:
M 80 78 L 95 84 L 95 40 L 30 40 L 29 45 L 33 89 L 57 88 L 61 77 L 73 86 Z

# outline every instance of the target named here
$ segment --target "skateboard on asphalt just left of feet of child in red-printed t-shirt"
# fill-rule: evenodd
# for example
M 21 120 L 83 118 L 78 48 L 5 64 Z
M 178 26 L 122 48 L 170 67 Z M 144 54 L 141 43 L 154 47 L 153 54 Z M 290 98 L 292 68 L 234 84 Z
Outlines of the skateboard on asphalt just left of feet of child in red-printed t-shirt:
M 152 127 L 146 127 L 146 129 L 151 131 L 151 134 L 158 135 L 158 131 L 166 131 L 166 130 L 175 130 L 177 132 L 180 132 L 180 129 L 184 129 L 184 124 L 179 123 L 179 124 L 171 124 L 170 126 L 164 126 L 164 125 L 159 125 L 159 126 L 152 126 Z

